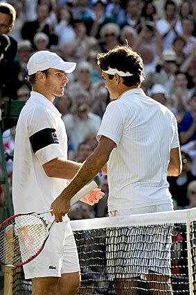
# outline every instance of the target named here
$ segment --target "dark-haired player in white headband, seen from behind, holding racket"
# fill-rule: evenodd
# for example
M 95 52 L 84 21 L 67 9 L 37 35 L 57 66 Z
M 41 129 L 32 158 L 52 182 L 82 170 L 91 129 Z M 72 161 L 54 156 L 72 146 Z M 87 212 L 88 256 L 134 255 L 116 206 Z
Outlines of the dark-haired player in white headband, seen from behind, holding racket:
M 98 174 L 106 163 L 107 172 L 103 169 L 103 174 L 107 173 L 109 183 L 109 216 L 172 210 L 167 175 L 178 176 L 181 173 L 175 116 L 168 108 L 146 96 L 141 89 L 143 61 L 130 47 L 117 46 L 107 53 L 99 53 L 97 61 L 112 101 L 105 110 L 98 130 L 97 148 L 51 204 L 55 220 L 62 221 L 64 214 L 69 211 L 69 200 L 73 194 Z M 142 230 L 137 235 L 139 240 L 148 235 L 145 227 Z M 127 265 L 118 267 L 116 294 L 136 294 L 136 280 L 130 278 L 136 278 L 140 273 L 148 278 L 151 289 L 157 287 L 152 282 L 154 280 L 160 284 L 157 289 L 165 290 L 161 294 L 172 294 L 168 251 L 170 233 L 168 229 L 168 233 L 160 237 L 160 245 L 163 246 L 161 253 L 164 255 L 161 265 L 154 263 L 160 261 L 159 257 L 158 260 L 150 256 L 143 259 L 142 244 L 136 257 L 132 257 L 132 244 L 127 251 L 127 260 L 119 257 L 122 255 L 123 258 L 124 251 L 118 252 L 120 261 L 127 261 Z M 126 241 L 122 242 L 126 244 Z M 145 244 L 145 247 L 149 245 Z M 156 255 L 160 253 L 155 252 Z M 149 249 L 148 253 L 152 251 Z M 124 269 L 127 276 L 123 276 Z M 152 294 L 156 292 L 152 291 Z

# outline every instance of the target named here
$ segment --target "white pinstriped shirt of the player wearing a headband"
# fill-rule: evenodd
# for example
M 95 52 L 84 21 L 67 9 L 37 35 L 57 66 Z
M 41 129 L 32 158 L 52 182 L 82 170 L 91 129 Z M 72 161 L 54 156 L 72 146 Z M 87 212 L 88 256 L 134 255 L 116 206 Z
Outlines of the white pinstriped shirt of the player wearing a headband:
M 98 131 L 116 143 L 109 156 L 109 211 L 171 203 L 167 169 L 179 146 L 172 112 L 133 89 L 106 108 Z

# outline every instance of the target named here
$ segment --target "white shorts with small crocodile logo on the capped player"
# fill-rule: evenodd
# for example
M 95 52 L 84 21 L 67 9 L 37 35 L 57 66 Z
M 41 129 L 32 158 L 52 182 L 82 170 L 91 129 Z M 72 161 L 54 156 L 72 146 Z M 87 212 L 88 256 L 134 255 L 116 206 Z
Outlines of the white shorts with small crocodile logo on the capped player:
M 69 221 L 55 224 L 42 252 L 24 265 L 26 279 L 60 277 L 63 273 L 78 271 L 78 251 Z

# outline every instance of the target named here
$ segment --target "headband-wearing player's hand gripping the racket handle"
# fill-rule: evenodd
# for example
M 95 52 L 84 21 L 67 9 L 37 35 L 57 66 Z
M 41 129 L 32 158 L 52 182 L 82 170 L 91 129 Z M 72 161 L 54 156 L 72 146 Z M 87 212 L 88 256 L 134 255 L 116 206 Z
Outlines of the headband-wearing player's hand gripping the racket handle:
M 62 222 L 62 217 L 70 210 L 70 201 L 66 196 L 60 194 L 60 196 L 51 203 L 51 209 L 55 214 L 55 221 Z

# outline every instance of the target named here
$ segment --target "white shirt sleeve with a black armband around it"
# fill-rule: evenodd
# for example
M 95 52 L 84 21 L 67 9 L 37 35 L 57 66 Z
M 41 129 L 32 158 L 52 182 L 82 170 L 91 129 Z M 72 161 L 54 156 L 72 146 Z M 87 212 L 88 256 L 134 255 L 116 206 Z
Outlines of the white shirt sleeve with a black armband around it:
M 35 108 L 28 122 L 28 134 L 33 153 L 40 165 L 64 156 L 57 136 L 55 115 L 46 108 Z

